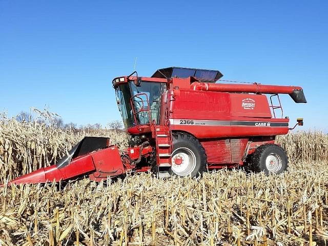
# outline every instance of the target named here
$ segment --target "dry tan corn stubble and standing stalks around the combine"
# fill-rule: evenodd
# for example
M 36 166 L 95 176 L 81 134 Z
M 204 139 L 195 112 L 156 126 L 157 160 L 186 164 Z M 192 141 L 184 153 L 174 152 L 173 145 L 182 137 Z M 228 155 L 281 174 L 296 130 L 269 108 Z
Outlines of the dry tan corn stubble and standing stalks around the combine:
M 85 135 L 2 117 L 2 182 L 58 160 Z M 219 170 L 203 178 L 150 173 L 95 183 L 0 188 L 0 245 L 325 245 L 328 137 L 299 132 L 278 141 L 290 157 L 281 175 Z

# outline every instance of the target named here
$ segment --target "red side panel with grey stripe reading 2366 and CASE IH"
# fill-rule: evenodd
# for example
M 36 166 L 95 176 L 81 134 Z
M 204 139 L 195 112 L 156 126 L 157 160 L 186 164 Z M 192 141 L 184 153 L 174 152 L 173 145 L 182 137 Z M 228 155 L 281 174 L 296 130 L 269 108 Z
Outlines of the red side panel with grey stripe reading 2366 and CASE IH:
M 173 90 L 170 124 L 197 138 L 275 136 L 288 133 L 289 119 L 271 118 L 265 95 Z

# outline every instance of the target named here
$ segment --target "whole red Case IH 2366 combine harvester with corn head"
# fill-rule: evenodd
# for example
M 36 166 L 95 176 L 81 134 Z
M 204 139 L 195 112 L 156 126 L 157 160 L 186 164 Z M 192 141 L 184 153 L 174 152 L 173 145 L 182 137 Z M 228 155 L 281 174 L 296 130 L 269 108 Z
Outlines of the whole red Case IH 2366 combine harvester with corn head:
M 100 181 L 149 170 L 158 176 L 198 176 L 207 169 L 244 165 L 255 172 L 283 172 L 288 158 L 275 138 L 291 128 L 289 118 L 282 117 L 279 94 L 306 103 L 302 88 L 216 83 L 222 76 L 216 70 L 171 67 L 151 77 L 133 72 L 113 79 L 125 128 L 139 136 L 140 144 L 120 153 L 108 138 L 85 137 L 56 165 L 10 183 L 85 175 Z M 270 94 L 270 104 L 264 94 Z

